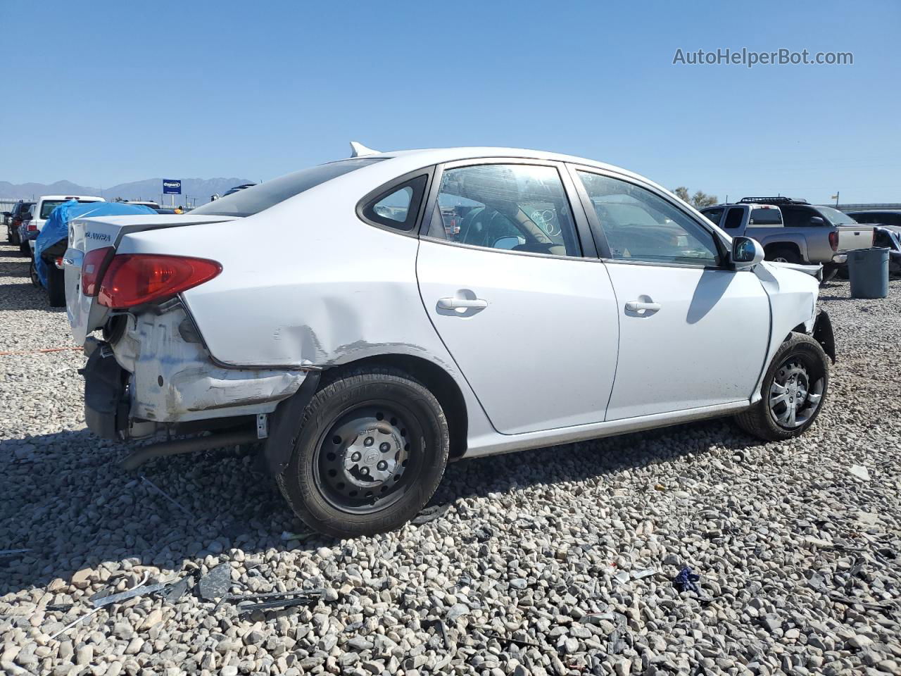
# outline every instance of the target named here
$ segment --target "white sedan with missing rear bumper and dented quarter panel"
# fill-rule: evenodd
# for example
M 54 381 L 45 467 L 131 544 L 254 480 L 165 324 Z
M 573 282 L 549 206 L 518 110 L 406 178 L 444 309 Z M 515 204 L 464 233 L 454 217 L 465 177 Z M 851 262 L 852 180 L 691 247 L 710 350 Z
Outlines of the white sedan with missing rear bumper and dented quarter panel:
M 87 425 L 160 439 L 126 467 L 265 440 L 296 515 L 353 536 L 448 461 L 714 416 L 781 440 L 823 407 L 816 279 L 649 180 L 353 146 L 187 215 L 70 224 Z

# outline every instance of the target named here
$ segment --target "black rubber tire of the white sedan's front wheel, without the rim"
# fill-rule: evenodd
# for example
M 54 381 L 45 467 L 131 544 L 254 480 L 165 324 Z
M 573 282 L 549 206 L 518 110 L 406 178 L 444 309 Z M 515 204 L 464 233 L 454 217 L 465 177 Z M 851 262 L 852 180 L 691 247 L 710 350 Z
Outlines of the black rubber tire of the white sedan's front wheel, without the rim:
M 819 394 L 819 403 L 806 418 L 805 422 L 795 427 L 787 427 L 778 422 L 777 417 L 771 411 L 770 390 L 773 382 L 778 377 L 778 372 L 790 362 L 803 365 L 807 371 L 810 383 L 817 383 L 822 379 L 822 389 Z M 769 364 L 766 376 L 761 385 L 763 397 L 744 413 L 735 416 L 735 422 L 748 434 L 759 437 L 764 441 L 778 442 L 793 439 L 804 434 L 810 425 L 813 425 L 816 417 L 823 410 L 826 396 L 829 392 L 829 358 L 823 351 L 820 343 L 805 333 L 791 333 L 787 340 L 779 346 Z M 805 394 L 805 403 L 808 396 L 813 394 L 813 388 Z M 795 395 L 797 397 L 797 395 Z

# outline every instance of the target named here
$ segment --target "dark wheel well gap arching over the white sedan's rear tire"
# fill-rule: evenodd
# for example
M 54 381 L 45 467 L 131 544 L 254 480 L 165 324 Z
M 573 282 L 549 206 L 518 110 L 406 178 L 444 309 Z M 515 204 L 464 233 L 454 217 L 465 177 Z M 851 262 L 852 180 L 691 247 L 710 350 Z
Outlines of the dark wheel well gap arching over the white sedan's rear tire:
M 403 370 L 423 383 L 438 399 L 438 403 L 444 410 L 444 416 L 447 418 L 448 431 L 451 434 L 451 460 L 460 458 L 466 452 L 467 434 L 469 433 L 466 402 L 457 382 L 446 370 L 422 357 L 407 354 L 380 354 L 357 361 L 349 361 L 325 370 L 323 380 L 328 382 L 339 376 L 344 370 L 359 369 L 361 366 L 387 366 Z

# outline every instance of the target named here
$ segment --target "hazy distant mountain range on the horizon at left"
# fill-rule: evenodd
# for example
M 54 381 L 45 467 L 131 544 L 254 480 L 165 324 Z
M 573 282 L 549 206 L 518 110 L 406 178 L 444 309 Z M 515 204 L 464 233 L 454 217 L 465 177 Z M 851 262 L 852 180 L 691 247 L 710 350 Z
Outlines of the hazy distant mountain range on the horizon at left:
M 196 204 L 205 204 L 211 195 L 218 193 L 224 195 L 231 187 L 240 186 L 242 183 L 250 183 L 248 178 L 183 178 L 181 181 L 181 195 L 175 196 L 176 204 L 184 204 L 185 198 L 196 198 Z M 113 187 L 88 187 L 79 186 L 71 181 L 57 181 L 50 183 L 20 183 L 18 185 L 7 181 L 0 181 L 0 199 L 32 199 L 41 195 L 91 195 L 105 197 L 107 201 L 113 201 L 116 197 L 122 199 L 150 199 L 159 201 L 163 191 L 162 178 L 147 178 L 142 181 L 121 183 Z M 169 196 L 165 196 L 169 203 Z

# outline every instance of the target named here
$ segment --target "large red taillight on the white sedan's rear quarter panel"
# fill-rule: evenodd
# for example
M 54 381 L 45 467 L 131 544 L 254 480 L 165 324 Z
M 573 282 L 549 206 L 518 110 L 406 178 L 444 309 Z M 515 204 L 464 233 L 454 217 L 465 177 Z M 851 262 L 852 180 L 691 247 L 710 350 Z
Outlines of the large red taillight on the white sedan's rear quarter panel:
M 164 300 L 213 279 L 222 269 L 215 260 L 202 258 L 120 254 L 103 275 L 97 302 L 122 309 Z

